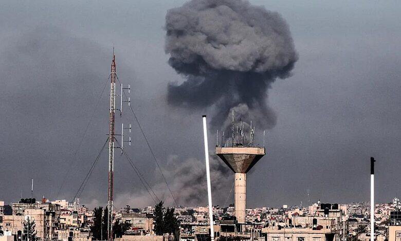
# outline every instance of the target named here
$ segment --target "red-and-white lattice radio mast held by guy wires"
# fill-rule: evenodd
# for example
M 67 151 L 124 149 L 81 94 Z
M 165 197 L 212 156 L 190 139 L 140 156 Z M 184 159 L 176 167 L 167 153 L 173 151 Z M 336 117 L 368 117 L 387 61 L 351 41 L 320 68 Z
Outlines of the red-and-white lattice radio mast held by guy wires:
M 113 240 L 113 180 L 114 180 L 114 115 L 116 90 L 116 62 L 113 49 L 112 72 L 110 74 L 110 126 L 108 132 L 108 203 L 107 203 L 107 240 Z

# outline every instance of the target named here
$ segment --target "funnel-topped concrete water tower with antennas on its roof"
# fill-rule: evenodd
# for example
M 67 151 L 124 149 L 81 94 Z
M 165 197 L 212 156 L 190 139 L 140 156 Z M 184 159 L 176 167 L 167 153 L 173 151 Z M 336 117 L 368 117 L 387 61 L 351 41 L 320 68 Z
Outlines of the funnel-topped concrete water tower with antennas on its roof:
M 250 127 L 249 141 L 246 140 L 242 122 L 236 135 L 234 133 L 234 116 L 232 122 L 231 142 L 216 145 L 216 155 L 235 173 L 234 180 L 234 215 L 238 223 L 245 223 L 246 209 L 246 173 L 265 155 L 265 148 L 253 146 L 254 127 Z M 218 137 L 217 137 L 218 138 Z M 231 144 L 231 145 L 230 145 Z

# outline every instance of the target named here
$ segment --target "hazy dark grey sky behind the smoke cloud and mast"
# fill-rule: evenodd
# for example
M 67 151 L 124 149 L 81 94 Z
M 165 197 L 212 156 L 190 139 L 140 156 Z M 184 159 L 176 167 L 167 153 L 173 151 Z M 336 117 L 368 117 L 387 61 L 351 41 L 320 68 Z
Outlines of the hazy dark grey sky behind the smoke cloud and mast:
M 67 169 L 58 198 L 74 196 L 106 138 L 107 90 L 75 160 L 107 82 L 114 44 L 119 78 L 133 88 L 132 106 L 179 204 L 206 204 L 204 192 L 189 198 L 183 183 L 203 176 L 200 116 L 212 110 L 191 112 L 166 102 L 168 83 L 183 80 L 167 64 L 162 26 L 166 11 L 183 3 L 2 1 L 0 199 L 10 203 L 21 193 L 30 195 L 31 178 L 37 198 L 54 199 Z M 307 189 L 313 201 L 367 201 L 371 155 L 377 159 L 377 200 L 401 195 L 401 4 L 251 3 L 286 19 L 299 61 L 292 77 L 269 90 L 277 125 L 267 131 L 267 155 L 248 175 L 248 207 L 305 203 Z M 172 204 L 131 115 L 122 121 L 133 124 L 127 153 L 157 195 Z M 153 205 L 126 160 L 116 157 L 115 166 L 116 205 Z M 81 203 L 106 204 L 106 170 L 103 153 Z M 225 203 L 232 179 L 230 172 L 213 177 L 216 204 Z

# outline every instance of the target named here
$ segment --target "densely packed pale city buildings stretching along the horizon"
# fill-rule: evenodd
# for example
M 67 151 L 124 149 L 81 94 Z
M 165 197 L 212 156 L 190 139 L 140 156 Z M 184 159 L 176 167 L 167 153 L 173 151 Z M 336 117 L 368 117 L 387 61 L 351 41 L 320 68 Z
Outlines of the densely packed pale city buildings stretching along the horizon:
M 401 202 L 375 204 L 375 240 L 401 240 Z M 113 211 L 113 223 L 126 224 L 114 232 L 115 240 L 210 240 L 208 207 L 175 207 L 177 233 L 158 235 L 155 207 L 129 205 Z M 221 240 L 260 241 L 345 241 L 370 240 L 370 204 L 330 204 L 320 200 L 311 206 L 283 205 L 281 208 L 246 209 L 245 222 L 234 216 L 234 205 L 213 206 L 214 237 Z M 0 234 L 11 240 L 99 240 L 94 234 L 99 209 L 67 200 L 22 198 L 5 204 L 0 201 Z M 101 213 L 102 214 L 102 213 Z M 101 216 L 102 218 L 102 216 Z M 104 220 L 102 220 L 104 224 Z M 34 230 L 29 225 L 34 226 Z M 104 225 L 101 225 L 101 229 Z M 113 226 L 114 227 L 114 226 Z M 106 229 L 106 228 L 104 228 Z M 106 230 L 101 230 L 106 237 Z M 103 238 L 104 239 L 104 238 Z

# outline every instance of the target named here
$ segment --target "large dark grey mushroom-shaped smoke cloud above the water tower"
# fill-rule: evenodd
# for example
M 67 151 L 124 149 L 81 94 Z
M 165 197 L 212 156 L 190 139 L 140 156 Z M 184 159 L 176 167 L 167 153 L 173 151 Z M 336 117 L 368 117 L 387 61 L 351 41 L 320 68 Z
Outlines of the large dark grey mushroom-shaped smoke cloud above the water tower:
M 222 127 L 233 108 L 247 110 L 260 128 L 276 124 L 267 90 L 288 77 L 298 59 L 278 13 L 242 0 L 192 0 L 167 12 L 165 28 L 169 64 L 186 77 L 169 85 L 169 104 L 213 106 L 214 127 Z

